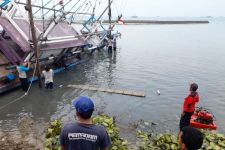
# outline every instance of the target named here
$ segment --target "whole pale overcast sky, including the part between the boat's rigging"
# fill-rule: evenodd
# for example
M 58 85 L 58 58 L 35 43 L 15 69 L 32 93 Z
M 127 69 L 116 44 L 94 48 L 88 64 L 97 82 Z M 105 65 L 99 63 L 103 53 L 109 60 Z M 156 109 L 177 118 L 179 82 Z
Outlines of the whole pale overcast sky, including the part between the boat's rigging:
M 1 0 L 0 0 L 1 1 Z M 26 1 L 26 0 L 22 0 Z M 35 4 L 41 5 L 42 1 L 47 3 L 49 0 L 32 0 Z M 52 0 L 50 5 L 58 3 L 60 0 Z M 71 0 L 63 0 L 64 3 Z M 92 6 L 96 2 L 96 14 L 100 14 L 108 5 L 108 0 L 72 0 L 67 5 L 73 6 L 79 1 L 78 6 L 88 2 Z M 90 2 L 89 2 L 90 1 Z M 83 5 L 85 6 L 85 5 Z M 88 8 L 88 7 L 87 7 Z M 68 8 L 69 9 L 69 8 Z M 92 9 L 89 9 L 92 12 Z M 80 12 L 85 12 L 81 9 Z M 118 16 L 123 14 L 124 17 L 225 17 L 225 0 L 113 0 L 112 14 Z M 105 13 L 104 16 L 107 16 Z

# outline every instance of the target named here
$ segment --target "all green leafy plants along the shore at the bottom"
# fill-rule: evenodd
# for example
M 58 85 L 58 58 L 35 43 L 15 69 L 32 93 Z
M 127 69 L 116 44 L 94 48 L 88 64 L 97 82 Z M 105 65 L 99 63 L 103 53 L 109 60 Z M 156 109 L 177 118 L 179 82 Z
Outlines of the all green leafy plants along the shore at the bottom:
M 110 150 L 128 150 L 128 141 L 120 137 L 120 129 L 116 126 L 113 118 L 107 115 L 97 115 L 92 118 L 94 124 L 103 125 L 111 139 Z M 62 128 L 60 120 L 53 121 L 46 132 L 44 150 L 59 150 L 59 135 Z M 225 149 L 225 136 L 202 130 L 204 143 L 201 150 Z M 150 133 L 137 130 L 137 149 L 139 150 L 179 150 L 178 138 L 171 133 L 151 136 Z

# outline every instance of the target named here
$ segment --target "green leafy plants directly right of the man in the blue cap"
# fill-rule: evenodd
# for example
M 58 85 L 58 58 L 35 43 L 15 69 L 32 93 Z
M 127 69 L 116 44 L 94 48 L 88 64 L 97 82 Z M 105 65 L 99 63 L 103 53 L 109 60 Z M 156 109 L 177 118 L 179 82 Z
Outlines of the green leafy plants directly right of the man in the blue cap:
M 107 115 L 98 115 L 92 118 L 94 124 L 100 124 L 106 127 L 107 133 L 111 139 L 110 150 L 128 150 L 127 140 L 120 137 L 120 129 L 113 122 L 113 118 Z

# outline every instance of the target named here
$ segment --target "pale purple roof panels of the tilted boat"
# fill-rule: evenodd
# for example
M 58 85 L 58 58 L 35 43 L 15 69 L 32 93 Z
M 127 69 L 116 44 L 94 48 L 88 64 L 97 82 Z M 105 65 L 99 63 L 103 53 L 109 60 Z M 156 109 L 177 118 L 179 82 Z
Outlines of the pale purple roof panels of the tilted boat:
M 13 18 L 16 25 L 31 39 L 30 24 L 28 20 L 22 18 Z M 47 27 L 50 20 L 34 20 L 37 37 L 43 32 L 43 24 Z M 0 17 L 0 26 L 7 32 L 11 39 L 17 43 L 24 52 L 30 51 L 30 42 L 27 41 L 21 33 L 4 17 Z M 63 37 L 79 36 L 78 32 L 66 22 L 59 22 L 49 33 L 48 39 L 60 39 Z M 43 41 L 41 50 L 52 50 L 59 48 L 77 47 L 85 44 L 84 38 L 72 38 L 70 40 L 47 40 Z

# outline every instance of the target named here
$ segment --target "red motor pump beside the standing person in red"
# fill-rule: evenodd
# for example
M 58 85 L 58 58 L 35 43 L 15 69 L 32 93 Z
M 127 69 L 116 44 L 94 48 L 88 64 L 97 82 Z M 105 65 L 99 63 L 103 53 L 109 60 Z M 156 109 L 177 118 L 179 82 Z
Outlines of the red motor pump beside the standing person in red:
M 202 107 L 197 108 L 191 116 L 190 126 L 211 130 L 217 129 L 214 115 Z

